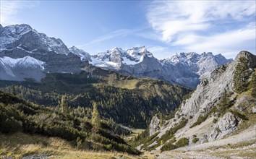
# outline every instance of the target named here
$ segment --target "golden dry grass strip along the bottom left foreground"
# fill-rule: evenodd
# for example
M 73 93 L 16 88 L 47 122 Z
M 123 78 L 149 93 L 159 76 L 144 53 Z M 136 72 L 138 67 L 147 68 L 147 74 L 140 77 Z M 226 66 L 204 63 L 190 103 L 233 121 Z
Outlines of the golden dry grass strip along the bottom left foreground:
M 0 134 L 0 158 L 22 158 L 24 156 L 46 155 L 49 158 L 148 158 L 119 152 L 95 152 L 77 150 L 71 142 L 56 137 L 29 135 L 21 132 Z

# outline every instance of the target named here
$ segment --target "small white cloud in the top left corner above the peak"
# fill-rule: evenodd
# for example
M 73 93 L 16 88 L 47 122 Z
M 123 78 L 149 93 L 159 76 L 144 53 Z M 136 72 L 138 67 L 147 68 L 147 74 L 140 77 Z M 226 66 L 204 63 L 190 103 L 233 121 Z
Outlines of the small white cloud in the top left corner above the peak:
M 20 23 L 17 14 L 21 9 L 36 7 L 39 1 L 0 1 L 0 22 L 1 25 L 14 25 Z

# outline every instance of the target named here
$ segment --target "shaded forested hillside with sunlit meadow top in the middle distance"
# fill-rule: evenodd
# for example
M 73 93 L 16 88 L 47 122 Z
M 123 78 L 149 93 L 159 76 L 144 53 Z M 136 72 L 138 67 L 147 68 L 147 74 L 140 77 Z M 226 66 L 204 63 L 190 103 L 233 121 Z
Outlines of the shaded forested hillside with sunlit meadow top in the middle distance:
M 80 108 L 89 117 L 95 102 L 104 118 L 138 128 L 145 128 L 155 113 L 174 111 L 190 91 L 161 80 L 127 77 L 90 65 L 80 74 L 47 74 L 42 82 L 1 81 L 1 89 L 43 106 L 59 107 L 64 95 L 67 107 Z

